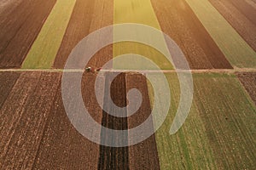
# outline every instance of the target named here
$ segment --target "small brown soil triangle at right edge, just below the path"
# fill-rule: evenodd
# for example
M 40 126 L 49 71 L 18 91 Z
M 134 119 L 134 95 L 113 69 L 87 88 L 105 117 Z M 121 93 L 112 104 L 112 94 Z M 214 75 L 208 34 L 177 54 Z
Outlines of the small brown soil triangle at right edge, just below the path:
M 256 105 L 256 72 L 237 72 L 236 76 Z

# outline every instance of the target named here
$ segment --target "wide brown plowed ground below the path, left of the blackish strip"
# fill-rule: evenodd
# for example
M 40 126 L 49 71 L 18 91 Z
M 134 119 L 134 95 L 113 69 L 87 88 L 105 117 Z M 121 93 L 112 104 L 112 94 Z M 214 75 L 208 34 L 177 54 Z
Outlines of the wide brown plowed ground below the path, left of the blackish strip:
M 97 168 L 100 147 L 79 134 L 68 120 L 60 72 L 4 72 L 0 76 L 6 80 L 1 87 L 9 89 L 15 84 L 0 111 L 1 169 Z M 90 73 L 83 78 L 82 93 L 91 116 L 101 123 L 102 109 L 87 88 L 94 87 L 95 78 Z

